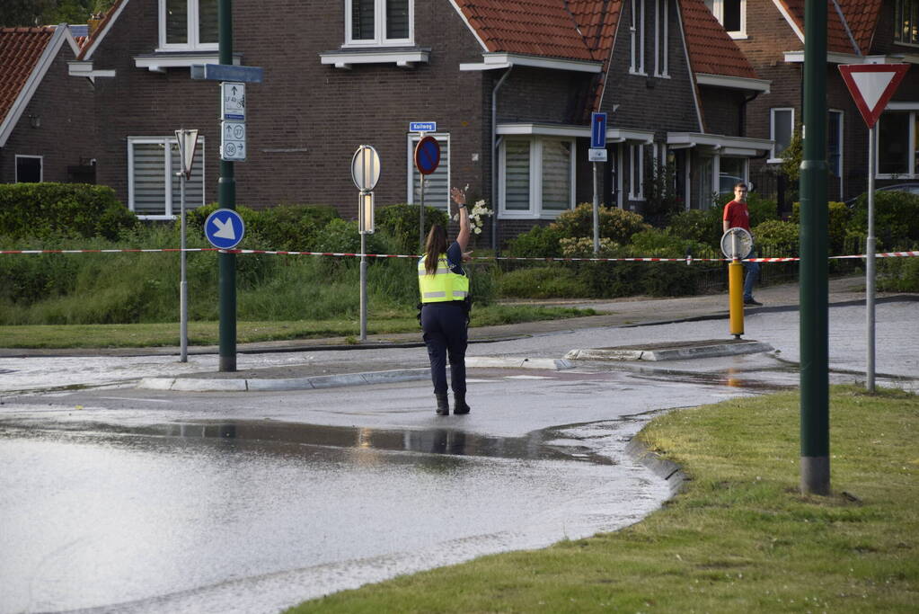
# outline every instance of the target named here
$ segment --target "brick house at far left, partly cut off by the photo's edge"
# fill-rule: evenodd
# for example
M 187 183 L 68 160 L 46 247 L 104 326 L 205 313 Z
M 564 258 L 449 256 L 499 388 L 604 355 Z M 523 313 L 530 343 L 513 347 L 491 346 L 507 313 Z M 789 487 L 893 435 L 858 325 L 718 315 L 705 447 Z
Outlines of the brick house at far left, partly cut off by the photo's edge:
M 0 28 L 0 181 L 94 181 L 93 90 L 68 76 L 72 28 Z

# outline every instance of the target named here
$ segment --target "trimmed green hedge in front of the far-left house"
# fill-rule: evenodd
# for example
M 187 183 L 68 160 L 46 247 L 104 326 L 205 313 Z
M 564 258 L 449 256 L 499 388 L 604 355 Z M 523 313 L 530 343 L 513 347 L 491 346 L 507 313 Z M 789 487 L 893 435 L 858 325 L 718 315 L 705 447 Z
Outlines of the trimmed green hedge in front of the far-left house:
M 9 237 L 100 236 L 115 240 L 137 224 L 137 216 L 105 186 L 0 185 L 0 234 Z

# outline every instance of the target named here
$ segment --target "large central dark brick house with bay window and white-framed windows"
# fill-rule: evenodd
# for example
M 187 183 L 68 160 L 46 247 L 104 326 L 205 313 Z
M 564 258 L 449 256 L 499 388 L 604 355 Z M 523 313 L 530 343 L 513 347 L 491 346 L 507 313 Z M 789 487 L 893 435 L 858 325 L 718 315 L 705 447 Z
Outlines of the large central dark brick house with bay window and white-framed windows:
M 189 78 L 217 62 L 216 6 L 120 0 L 71 65 L 93 81 L 97 180 L 146 218 L 175 215 L 178 128 L 201 135 L 188 200 L 217 199 L 218 86 Z M 592 199 L 591 111 L 609 113 L 608 206 L 641 211 L 670 164 L 686 207 L 707 207 L 772 146 L 743 133 L 769 84 L 703 0 L 237 0 L 233 24 L 234 62 L 265 71 L 234 165 L 237 202 L 254 208 L 355 217 L 361 143 L 380 153 L 378 206 L 416 202 L 413 120 L 436 121 L 442 149 L 425 203 L 468 185 L 497 203 L 499 242 Z

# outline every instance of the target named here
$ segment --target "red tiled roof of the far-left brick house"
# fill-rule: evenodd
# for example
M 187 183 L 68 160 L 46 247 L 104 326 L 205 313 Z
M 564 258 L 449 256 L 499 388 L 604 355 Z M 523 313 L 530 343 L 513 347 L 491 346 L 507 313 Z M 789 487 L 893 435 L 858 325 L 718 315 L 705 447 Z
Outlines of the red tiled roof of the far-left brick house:
M 6 119 L 53 34 L 53 26 L 0 28 L 0 123 Z

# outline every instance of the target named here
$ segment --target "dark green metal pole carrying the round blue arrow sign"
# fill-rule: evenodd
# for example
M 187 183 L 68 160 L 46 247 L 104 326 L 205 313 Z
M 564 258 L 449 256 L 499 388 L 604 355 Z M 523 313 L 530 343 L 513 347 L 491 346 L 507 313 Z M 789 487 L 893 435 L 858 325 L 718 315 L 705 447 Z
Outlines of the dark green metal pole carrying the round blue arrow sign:
M 233 64 L 233 0 L 219 0 L 220 63 Z M 222 118 L 221 118 L 222 119 Z M 236 178 L 233 163 L 221 160 L 218 191 L 221 209 L 236 209 Z M 236 255 L 219 254 L 220 279 L 220 370 L 236 370 Z

